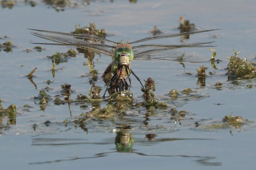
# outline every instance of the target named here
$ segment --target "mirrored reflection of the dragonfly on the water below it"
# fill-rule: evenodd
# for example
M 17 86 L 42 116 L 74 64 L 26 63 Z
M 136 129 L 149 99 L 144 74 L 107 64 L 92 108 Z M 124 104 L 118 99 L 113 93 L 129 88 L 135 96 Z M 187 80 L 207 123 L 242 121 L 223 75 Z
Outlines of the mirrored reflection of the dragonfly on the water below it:
M 136 152 L 136 150 L 133 149 L 134 143 L 139 144 L 145 144 L 148 146 L 148 144 L 157 144 L 159 142 L 165 142 L 165 141 L 178 141 L 178 140 L 211 140 L 211 139 L 198 139 L 198 138 L 156 138 L 157 135 L 155 134 L 147 134 L 145 138 L 133 138 L 132 134 L 127 132 L 126 130 L 117 132 L 116 137 L 114 138 L 108 138 L 104 139 L 101 142 L 87 142 L 86 139 L 52 139 L 52 138 L 34 138 L 32 139 L 32 145 L 35 146 L 61 146 L 61 145 L 74 145 L 74 144 L 113 144 L 115 143 L 116 151 L 111 152 L 102 152 L 99 154 L 95 154 L 90 157 L 75 157 L 71 159 L 58 159 L 54 161 L 45 161 L 45 162 L 36 162 L 36 163 L 30 163 L 30 165 L 34 164 L 44 164 L 44 163 L 56 163 L 61 161 L 74 161 L 77 159 L 90 159 L 90 158 L 97 158 L 97 157 L 105 157 L 108 156 L 108 154 L 121 152 L 121 153 L 134 153 L 141 156 L 157 156 L 157 157 L 190 157 L 190 158 L 198 158 L 197 162 L 206 165 L 206 166 L 220 166 L 221 163 L 219 162 L 209 162 L 211 159 L 215 159 L 215 157 L 209 157 L 209 156 L 191 156 L 191 155 L 155 155 L 155 154 L 145 154 L 142 152 Z

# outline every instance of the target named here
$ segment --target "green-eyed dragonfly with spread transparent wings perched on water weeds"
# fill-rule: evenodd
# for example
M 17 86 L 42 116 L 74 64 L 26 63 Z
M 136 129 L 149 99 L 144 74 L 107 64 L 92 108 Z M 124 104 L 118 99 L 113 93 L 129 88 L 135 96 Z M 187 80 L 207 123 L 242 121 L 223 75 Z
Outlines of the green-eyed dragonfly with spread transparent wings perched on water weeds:
M 110 79 L 109 84 L 105 90 L 103 98 L 105 97 L 106 91 L 113 82 L 119 85 L 123 89 L 126 85 L 126 79 L 128 78 L 129 90 L 131 86 L 131 73 L 140 82 L 142 89 L 144 89 L 141 80 L 134 71 L 131 69 L 130 62 L 132 60 L 155 60 L 155 61 L 171 61 L 171 62 L 208 62 L 210 59 L 200 57 L 194 54 L 186 53 L 185 51 L 177 51 L 179 48 L 197 48 L 197 47 L 214 47 L 210 45 L 212 42 L 195 42 L 190 44 L 143 44 L 138 46 L 133 46 L 132 44 L 145 42 L 149 40 L 156 40 L 161 38 L 172 38 L 179 37 L 183 35 L 192 35 L 197 33 L 203 33 L 208 31 L 215 31 L 217 29 L 209 29 L 202 31 L 190 31 L 184 33 L 173 33 L 165 35 L 155 35 L 151 37 L 142 38 L 137 41 L 121 43 L 108 40 L 106 38 L 98 37 L 96 35 L 90 34 L 72 34 L 63 33 L 58 31 L 46 31 L 40 29 L 30 29 L 37 32 L 31 32 L 35 35 L 46 40 L 51 40 L 57 43 L 32 43 L 32 44 L 45 44 L 45 45 L 58 45 L 58 46 L 74 46 L 76 48 L 87 49 L 95 52 L 100 52 L 102 54 L 108 55 L 114 60 L 109 64 L 109 66 L 104 71 L 104 75 L 112 72 L 113 77 Z M 103 43 L 102 43 L 103 42 Z M 111 44 L 111 45 L 108 45 Z M 112 51 L 113 44 L 115 45 L 115 51 Z

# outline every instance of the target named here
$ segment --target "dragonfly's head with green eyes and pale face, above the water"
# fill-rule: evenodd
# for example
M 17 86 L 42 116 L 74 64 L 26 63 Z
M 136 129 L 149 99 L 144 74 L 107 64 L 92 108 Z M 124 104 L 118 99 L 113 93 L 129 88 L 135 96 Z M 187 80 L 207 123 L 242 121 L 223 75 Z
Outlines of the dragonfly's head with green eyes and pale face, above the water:
M 115 60 L 119 62 L 122 66 L 127 66 L 133 58 L 134 53 L 130 48 L 121 47 L 115 51 Z

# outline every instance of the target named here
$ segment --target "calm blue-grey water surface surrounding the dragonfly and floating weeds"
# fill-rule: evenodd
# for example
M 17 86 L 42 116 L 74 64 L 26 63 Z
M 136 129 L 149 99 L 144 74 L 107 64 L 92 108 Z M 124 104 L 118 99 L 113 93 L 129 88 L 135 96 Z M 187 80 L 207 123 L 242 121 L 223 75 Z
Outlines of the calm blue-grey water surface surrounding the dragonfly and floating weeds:
M 75 4 L 76 3 L 76 4 Z M 224 68 L 226 56 L 241 51 L 240 58 L 255 61 L 256 2 L 246 0 L 226 1 L 154 1 L 96 0 L 72 1 L 66 7 L 52 7 L 37 1 L 35 7 L 18 1 L 11 9 L 0 9 L 0 43 L 12 40 L 14 47 L 7 53 L 0 51 L 0 97 L 2 107 L 15 104 L 16 124 L 10 118 L 0 118 L 1 170 L 7 169 L 255 169 L 255 94 L 256 79 L 228 81 Z M 57 9 L 57 10 L 56 10 Z M 59 10 L 58 10 L 59 9 Z M 132 107 L 125 112 L 103 120 L 91 118 L 79 127 L 76 120 L 90 112 L 92 102 L 56 105 L 48 102 L 42 109 L 34 99 L 45 90 L 53 99 L 61 96 L 61 85 L 68 83 L 73 90 L 71 98 L 87 95 L 91 89 L 87 58 L 82 53 L 55 65 L 52 75 L 52 56 L 65 53 L 70 47 L 41 45 L 41 52 L 30 42 L 48 41 L 30 35 L 32 29 L 71 32 L 75 26 L 106 28 L 106 38 L 119 42 L 135 41 L 151 36 L 157 26 L 163 33 L 178 33 L 180 16 L 186 15 L 197 29 L 220 30 L 191 35 L 186 43 L 215 41 L 215 58 L 221 60 L 216 68 L 210 62 L 205 86 L 197 84 L 200 64 L 132 61 L 132 69 L 141 80 L 152 77 L 156 84 L 154 94 L 159 102 L 166 102 L 167 109 L 153 111 L 135 107 L 143 102 L 140 84 L 132 77 L 134 94 Z M 5 37 L 6 36 L 6 37 Z M 181 39 L 166 38 L 154 41 L 159 44 L 180 44 Z M 151 42 L 150 42 L 151 43 Z M 31 51 L 28 51 L 30 49 Z M 76 48 L 73 48 L 76 50 Z M 211 57 L 208 48 L 182 49 Z M 95 53 L 94 68 L 98 70 L 95 84 L 105 90 L 100 78 L 111 62 L 111 57 Z M 26 77 L 34 68 L 34 84 Z M 187 74 L 187 73 L 191 73 Z M 47 84 L 47 80 L 50 83 Z M 214 86 L 217 82 L 221 87 Z M 35 87 L 36 84 L 36 87 Z M 191 88 L 173 100 L 168 93 Z M 100 93 L 103 95 L 103 91 Z M 24 107 L 28 104 L 29 107 Z M 105 108 L 108 101 L 100 102 Z M 172 116 L 170 111 L 185 111 L 184 117 Z M 243 117 L 242 126 L 226 126 L 225 115 Z M 173 119 L 171 119 L 173 118 Z M 248 120 L 246 120 L 248 119 Z M 176 124 L 175 124 L 176 120 Z M 218 125 L 212 126 L 212 125 Z M 198 127 L 197 127 L 198 125 Z M 122 148 L 120 143 L 125 143 Z

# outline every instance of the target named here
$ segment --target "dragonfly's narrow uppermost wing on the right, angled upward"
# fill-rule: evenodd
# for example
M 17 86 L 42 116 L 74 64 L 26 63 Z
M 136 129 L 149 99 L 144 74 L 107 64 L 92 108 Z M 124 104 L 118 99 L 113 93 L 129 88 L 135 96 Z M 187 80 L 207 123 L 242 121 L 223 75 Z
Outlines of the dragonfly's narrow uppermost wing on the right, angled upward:
M 161 38 L 171 38 L 171 37 L 179 37 L 179 36 L 182 36 L 182 35 L 192 35 L 192 34 L 203 33 L 203 32 L 214 31 L 214 30 L 218 30 L 218 29 L 209 29 L 209 30 L 202 30 L 202 31 L 191 31 L 191 32 L 165 34 L 165 35 L 155 35 L 155 36 L 151 36 L 151 37 L 142 38 L 142 39 L 134 41 L 134 42 L 130 42 L 129 44 L 134 44 L 134 43 L 144 42 L 144 41 L 149 41 L 149 40 L 156 40 L 156 39 L 161 39 Z

